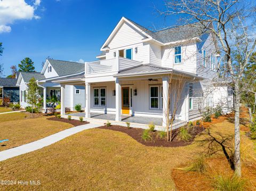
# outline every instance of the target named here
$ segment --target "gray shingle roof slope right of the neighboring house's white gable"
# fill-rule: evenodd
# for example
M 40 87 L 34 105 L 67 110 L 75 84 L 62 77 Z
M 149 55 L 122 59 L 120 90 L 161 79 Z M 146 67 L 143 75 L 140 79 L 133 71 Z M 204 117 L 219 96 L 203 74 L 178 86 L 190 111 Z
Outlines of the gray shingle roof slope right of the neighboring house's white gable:
M 53 60 L 53 59 L 47 59 L 47 60 L 51 63 L 52 67 L 58 73 L 59 76 L 66 76 L 69 74 L 79 73 L 85 70 L 84 63 L 68 62 L 68 61 Z

